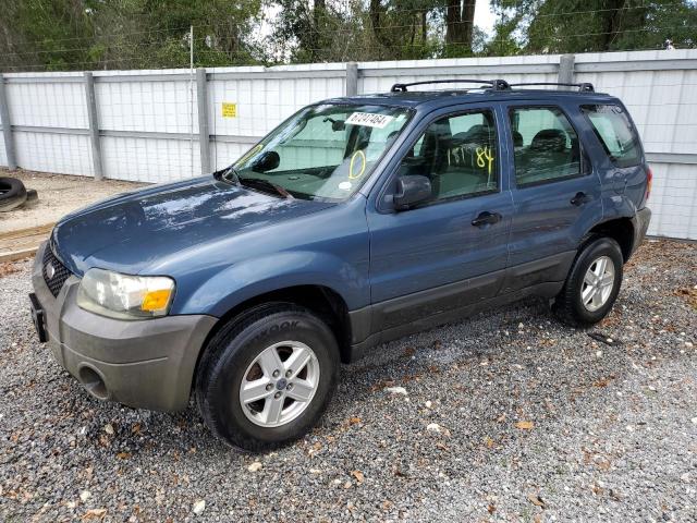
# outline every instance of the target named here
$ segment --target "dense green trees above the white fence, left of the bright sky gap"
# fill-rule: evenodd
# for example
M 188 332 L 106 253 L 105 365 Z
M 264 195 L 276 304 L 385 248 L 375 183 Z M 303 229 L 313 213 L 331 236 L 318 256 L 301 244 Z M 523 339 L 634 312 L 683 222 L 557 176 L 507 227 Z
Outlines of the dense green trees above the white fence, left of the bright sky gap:
M 261 0 L 5 0 L 0 69 L 86 70 L 257 63 Z

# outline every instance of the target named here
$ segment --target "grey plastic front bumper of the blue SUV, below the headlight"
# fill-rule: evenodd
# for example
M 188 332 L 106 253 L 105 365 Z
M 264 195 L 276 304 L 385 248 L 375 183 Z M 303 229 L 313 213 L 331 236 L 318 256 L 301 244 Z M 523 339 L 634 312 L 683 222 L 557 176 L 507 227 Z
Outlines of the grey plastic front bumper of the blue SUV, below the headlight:
M 58 363 L 100 400 L 179 411 L 188 404 L 196 361 L 217 318 L 167 316 L 124 321 L 80 308 L 80 279 L 71 276 L 53 297 L 41 273 L 44 243 L 32 283 Z

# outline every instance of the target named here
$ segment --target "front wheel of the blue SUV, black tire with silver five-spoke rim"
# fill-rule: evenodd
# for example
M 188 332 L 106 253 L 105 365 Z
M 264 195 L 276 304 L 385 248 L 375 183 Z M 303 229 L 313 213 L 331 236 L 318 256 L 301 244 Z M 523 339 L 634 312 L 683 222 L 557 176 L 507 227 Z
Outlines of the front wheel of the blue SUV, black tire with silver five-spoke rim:
M 271 366 L 270 354 L 280 356 Z M 307 363 L 292 368 L 298 355 L 307 355 Z M 229 445 L 255 452 L 274 449 L 317 424 L 337 386 L 339 360 L 334 335 L 308 309 L 288 303 L 260 305 L 211 339 L 196 372 L 196 403 L 208 428 Z M 277 377 L 271 370 L 276 366 L 282 366 Z M 299 374 L 286 379 L 289 368 Z M 243 382 L 250 387 L 249 394 L 265 398 L 243 406 Z M 297 394 L 309 400 L 296 401 Z

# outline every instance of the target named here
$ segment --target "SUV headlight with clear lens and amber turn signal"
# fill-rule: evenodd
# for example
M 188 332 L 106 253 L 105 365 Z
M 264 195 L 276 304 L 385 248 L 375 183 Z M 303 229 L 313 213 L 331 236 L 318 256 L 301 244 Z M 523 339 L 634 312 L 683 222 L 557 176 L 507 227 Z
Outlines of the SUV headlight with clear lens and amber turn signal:
M 174 297 L 174 280 L 164 276 L 127 276 L 102 269 L 85 272 L 77 305 L 118 319 L 166 316 Z

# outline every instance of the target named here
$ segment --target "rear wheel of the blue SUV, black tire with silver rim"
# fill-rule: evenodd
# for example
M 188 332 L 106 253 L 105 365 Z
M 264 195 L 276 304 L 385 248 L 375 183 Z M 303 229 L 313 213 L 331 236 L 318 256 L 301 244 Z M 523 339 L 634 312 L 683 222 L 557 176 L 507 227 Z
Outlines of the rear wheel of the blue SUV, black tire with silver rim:
M 604 270 L 601 270 L 602 260 Z M 623 264 L 617 242 L 611 238 L 591 236 L 579 248 L 564 287 L 554 300 L 557 316 L 576 327 L 589 327 L 604 318 L 617 299 Z M 594 279 L 589 269 L 596 278 L 596 272 L 602 272 L 603 276 L 595 280 L 597 283 L 588 283 Z

